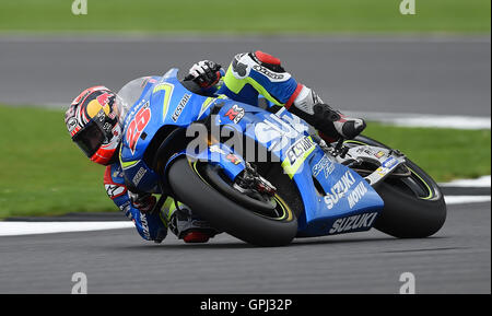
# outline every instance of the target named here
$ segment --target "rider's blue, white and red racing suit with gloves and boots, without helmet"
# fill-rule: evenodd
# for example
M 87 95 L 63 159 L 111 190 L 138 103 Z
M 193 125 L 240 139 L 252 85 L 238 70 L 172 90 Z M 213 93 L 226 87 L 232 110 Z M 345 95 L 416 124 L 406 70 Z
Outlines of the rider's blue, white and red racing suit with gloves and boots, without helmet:
M 225 95 L 255 106 L 259 97 L 263 97 L 269 106 L 284 106 L 303 118 L 328 141 L 353 138 L 365 128 L 362 119 L 345 117 L 324 104 L 313 90 L 297 83 L 278 58 L 262 51 L 236 55 L 222 75 L 220 65 L 204 60 L 191 67 L 183 83 L 195 93 Z M 166 199 L 162 211 L 152 211 L 155 198 L 129 191 L 119 161 L 106 167 L 104 184 L 109 198 L 133 221 L 144 239 L 159 243 L 165 238 L 168 227 L 185 242 L 207 242 L 219 233 L 171 198 Z

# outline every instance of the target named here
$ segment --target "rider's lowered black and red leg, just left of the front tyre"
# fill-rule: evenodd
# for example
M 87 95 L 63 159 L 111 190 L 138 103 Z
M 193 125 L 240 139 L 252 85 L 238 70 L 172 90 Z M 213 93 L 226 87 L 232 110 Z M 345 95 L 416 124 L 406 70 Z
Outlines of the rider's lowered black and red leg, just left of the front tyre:
M 169 218 L 169 230 L 185 243 L 207 243 L 220 232 L 208 222 L 191 213 L 191 210 L 179 203 Z

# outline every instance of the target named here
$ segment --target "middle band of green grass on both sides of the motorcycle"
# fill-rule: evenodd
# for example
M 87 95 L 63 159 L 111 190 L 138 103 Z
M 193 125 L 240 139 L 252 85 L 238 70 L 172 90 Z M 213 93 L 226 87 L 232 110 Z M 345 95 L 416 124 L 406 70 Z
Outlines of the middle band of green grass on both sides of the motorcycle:
M 71 142 L 63 112 L 0 106 L 0 218 L 116 211 L 104 167 Z M 436 180 L 490 175 L 490 130 L 370 124 L 365 134 L 403 151 Z

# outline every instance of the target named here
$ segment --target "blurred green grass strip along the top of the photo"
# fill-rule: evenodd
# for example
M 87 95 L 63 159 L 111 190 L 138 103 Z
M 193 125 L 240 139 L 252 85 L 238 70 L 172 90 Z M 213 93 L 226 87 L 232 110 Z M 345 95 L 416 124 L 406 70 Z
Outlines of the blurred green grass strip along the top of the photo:
M 0 31 L 132 31 L 219 33 L 445 32 L 489 33 L 490 0 L 3 0 Z

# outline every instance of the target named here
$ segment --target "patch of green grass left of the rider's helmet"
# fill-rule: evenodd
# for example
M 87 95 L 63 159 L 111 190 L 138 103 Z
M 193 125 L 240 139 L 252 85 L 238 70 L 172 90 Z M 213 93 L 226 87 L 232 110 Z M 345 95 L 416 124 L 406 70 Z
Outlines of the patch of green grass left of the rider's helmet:
M 0 106 L 0 218 L 115 210 L 104 167 L 72 143 L 63 113 Z

